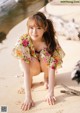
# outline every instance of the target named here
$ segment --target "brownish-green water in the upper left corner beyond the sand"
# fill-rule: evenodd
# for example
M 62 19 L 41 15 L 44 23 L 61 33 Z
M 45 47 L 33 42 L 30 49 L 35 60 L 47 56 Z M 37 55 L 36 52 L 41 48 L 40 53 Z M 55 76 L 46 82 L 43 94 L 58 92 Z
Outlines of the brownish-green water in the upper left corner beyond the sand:
M 13 2 L 9 8 L 3 7 L 2 13 L 0 13 L 0 42 L 16 24 L 38 11 L 47 2 L 47 0 L 19 0 L 16 4 Z

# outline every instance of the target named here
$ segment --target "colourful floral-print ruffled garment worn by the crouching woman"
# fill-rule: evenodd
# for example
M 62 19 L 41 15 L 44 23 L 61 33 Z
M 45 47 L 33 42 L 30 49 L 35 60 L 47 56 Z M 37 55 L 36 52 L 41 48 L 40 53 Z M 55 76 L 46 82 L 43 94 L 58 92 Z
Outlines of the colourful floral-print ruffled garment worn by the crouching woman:
M 40 53 L 35 51 L 33 42 L 29 35 L 24 34 L 19 38 L 15 47 L 13 48 L 13 55 L 19 59 L 23 59 L 26 63 L 30 63 L 32 57 L 43 59 L 47 66 L 50 66 L 52 69 L 61 67 L 62 58 L 65 53 L 60 47 L 58 41 L 56 40 L 57 47 L 51 56 L 47 51 L 47 48 L 43 48 Z

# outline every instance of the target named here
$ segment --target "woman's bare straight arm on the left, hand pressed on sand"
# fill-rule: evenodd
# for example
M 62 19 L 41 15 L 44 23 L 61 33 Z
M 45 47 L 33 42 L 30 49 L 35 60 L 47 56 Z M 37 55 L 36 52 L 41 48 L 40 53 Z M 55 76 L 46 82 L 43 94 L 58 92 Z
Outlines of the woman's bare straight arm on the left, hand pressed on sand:
M 22 110 L 28 110 L 34 106 L 31 95 L 31 76 L 30 76 L 30 64 L 26 63 L 24 60 L 20 60 L 22 70 L 24 72 L 24 89 L 25 89 L 25 100 L 22 104 Z

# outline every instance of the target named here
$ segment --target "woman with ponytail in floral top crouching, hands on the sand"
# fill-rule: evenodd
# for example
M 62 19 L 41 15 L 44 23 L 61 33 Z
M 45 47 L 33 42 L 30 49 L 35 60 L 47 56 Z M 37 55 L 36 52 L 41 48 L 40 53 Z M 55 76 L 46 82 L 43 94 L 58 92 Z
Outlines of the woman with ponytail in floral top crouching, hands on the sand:
M 25 100 L 22 110 L 28 110 L 35 105 L 31 95 L 32 77 L 44 72 L 44 83 L 48 89 L 46 101 L 53 105 L 55 69 L 61 67 L 64 52 L 57 39 L 50 19 L 42 12 L 37 12 L 28 18 L 28 33 L 21 36 L 13 49 L 19 59 L 24 73 Z

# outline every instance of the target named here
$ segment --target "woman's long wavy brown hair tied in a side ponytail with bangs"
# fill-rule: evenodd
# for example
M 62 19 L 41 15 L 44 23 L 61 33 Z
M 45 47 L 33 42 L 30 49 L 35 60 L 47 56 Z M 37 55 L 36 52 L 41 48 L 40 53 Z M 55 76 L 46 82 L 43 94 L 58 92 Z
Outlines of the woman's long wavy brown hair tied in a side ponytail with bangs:
M 37 26 L 46 28 L 46 31 L 43 34 L 43 40 L 47 45 L 48 52 L 52 55 L 56 49 L 55 30 L 52 21 L 47 19 L 42 12 L 37 12 L 28 18 L 28 27 L 31 20 L 35 20 Z

